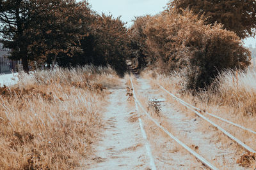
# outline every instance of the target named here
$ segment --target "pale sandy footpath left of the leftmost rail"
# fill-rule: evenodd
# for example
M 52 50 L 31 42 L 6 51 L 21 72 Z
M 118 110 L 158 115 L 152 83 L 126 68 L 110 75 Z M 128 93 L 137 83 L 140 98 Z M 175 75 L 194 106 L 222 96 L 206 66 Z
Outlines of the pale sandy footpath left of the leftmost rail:
M 95 144 L 95 155 L 86 169 L 148 169 L 145 141 L 138 120 L 131 121 L 134 104 L 127 102 L 125 85 L 111 89 L 104 113 L 105 131 Z

